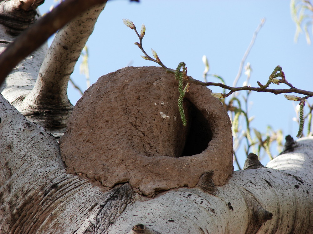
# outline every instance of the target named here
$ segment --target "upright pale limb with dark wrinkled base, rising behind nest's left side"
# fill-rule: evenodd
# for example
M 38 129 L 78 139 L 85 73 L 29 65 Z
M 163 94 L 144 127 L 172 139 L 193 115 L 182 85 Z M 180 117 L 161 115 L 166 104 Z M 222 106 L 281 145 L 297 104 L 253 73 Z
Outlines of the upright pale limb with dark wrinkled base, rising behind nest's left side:
M 40 67 L 33 89 L 25 99 L 14 103 L 29 120 L 54 134 L 65 131 L 73 109 L 67 96 L 69 76 L 104 6 L 105 3 L 91 7 L 59 30 Z

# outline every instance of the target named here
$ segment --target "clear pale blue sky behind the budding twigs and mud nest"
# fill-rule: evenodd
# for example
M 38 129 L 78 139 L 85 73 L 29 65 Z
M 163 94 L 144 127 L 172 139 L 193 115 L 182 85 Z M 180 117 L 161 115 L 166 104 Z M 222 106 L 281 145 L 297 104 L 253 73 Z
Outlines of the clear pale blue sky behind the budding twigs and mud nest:
M 52 4 L 52 0 L 46 0 L 39 8 L 41 13 L 47 12 Z M 275 66 L 280 65 L 286 79 L 295 87 L 313 90 L 313 47 L 306 43 L 304 34 L 294 42 L 296 26 L 290 16 L 290 1 L 286 0 L 141 0 L 140 3 L 111 0 L 87 42 L 91 83 L 129 64 L 157 66 L 140 57 L 141 51 L 134 45 L 138 38 L 122 22 L 123 18 L 128 18 L 139 30 L 142 23 L 146 25 L 143 45 L 149 52 L 153 48 L 167 67 L 176 68 L 184 61 L 188 74 L 201 80 L 202 56 L 206 55 L 210 73 L 222 76 L 226 84 L 232 85 L 244 52 L 263 17 L 266 22 L 245 62 L 253 69 L 251 86 L 257 86 L 257 81 L 266 83 Z M 72 79 L 85 90 L 85 77 L 79 73 L 80 61 Z M 216 78 L 209 79 L 218 82 Z M 245 79 L 243 74 L 238 86 L 242 86 Z M 282 84 L 270 87 L 287 88 Z M 210 89 L 222 91 L 218 87 Z M 80 98 L 71 85 L 68 94 L 73 105 Z M 292 121 L 295 117 L 292 101 L 283 95 L 268 93 L 252 93 L 249 100 L 249 114 L 255 116 L 252 127 L 265 132 L 267 125 L 271 125 L 274 129 L 282 129 L 284 135 L 296 138 L 298 126 Z M 276 154 L 275 149 L 273 153 Z M 240 155 L 243 165 L 245 155 Z M 268 161 L 267 157 L 262 159 L 262 163 Z

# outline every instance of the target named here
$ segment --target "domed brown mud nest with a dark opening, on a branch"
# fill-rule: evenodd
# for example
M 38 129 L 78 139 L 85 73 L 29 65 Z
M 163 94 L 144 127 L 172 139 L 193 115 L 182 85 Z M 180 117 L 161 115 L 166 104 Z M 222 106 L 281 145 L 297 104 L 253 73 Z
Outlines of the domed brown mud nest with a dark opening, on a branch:
M 101 76 L 77 102 L 61 154 L 68 172 L 107 187 L 129 182 L 139 193 L 194 187 L 214 170 L 226 183 L 233 171 L 229 117 L 211 90 L 191 85 L 177 107 L 178 82 L 161 67 L 126 67 Z

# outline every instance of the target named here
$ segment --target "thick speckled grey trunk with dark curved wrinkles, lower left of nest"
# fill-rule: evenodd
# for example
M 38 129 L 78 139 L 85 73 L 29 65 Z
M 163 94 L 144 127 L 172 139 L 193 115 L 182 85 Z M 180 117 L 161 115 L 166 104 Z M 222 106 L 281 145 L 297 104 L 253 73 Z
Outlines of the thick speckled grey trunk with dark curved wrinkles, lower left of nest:
M 104 233 L 136 195 L 66 173 L 59 145 L 0 95 L 0 233 Z

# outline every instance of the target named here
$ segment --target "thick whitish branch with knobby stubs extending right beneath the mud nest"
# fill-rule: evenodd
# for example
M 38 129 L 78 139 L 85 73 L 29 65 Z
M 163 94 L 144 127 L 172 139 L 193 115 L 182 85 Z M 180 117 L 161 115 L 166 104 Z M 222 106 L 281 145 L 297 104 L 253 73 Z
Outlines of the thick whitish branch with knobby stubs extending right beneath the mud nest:
M 214 195 L 179 188 L 136 201 L 108 233 L 136 222 L 161 233 L 311 233 L 312 145 L 313 138 L 300 139 L 268 167 L 233 172 Z

